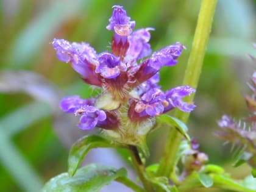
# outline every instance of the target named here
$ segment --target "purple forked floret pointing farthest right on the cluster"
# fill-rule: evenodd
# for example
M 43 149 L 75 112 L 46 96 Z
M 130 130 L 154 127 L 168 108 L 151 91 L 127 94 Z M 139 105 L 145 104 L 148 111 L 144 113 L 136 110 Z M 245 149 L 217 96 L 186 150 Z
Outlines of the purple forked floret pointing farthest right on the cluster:
M 182 98 L 188 96 L 191 93 L 194 93 L 196 90 L 189 86 L 181 86 L 172 88 L 165 92 L 166 101 L 168 101 L 168 106 L 165 107 L 165 112 L 171 110 L 174 107 L 178 107 L 183 112 L 191 112 L 196 105 L 183 102 Z

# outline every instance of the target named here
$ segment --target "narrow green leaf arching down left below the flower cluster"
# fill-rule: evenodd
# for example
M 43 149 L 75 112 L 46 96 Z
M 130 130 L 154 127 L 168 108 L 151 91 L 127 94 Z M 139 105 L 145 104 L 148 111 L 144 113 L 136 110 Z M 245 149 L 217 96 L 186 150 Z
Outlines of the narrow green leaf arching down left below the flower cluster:
M 102 138 L 98 135 L 86 135 L 73 144 L 68 157 L 68 174 L 73 176 L 88 151 L 92 148 L 114 148 L 121 147 L 116 143 Z M 124 147 L 124 146 L 123 146 Z

